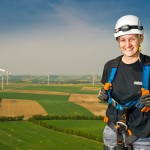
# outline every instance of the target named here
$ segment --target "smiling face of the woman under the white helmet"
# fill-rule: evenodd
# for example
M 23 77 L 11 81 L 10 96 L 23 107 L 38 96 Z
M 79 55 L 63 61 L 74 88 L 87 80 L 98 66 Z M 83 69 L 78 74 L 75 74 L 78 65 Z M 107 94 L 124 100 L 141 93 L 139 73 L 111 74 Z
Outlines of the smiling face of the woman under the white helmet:
M 138 57 L 139 46 L 143 42 L 143 35 L 127 34 L 118 38 L 119 47 L 126 57 Z

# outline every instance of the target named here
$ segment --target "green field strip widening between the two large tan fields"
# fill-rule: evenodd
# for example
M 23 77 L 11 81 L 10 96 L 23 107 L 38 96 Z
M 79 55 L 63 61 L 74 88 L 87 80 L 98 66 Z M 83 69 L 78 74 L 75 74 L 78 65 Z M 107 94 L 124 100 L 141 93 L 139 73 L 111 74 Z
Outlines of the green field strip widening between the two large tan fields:
M 93 116 L 87 109 L 69 102 L 69 96 L 0 92 L 0 97 L 5 99 L 36 100 L 51 115 Z

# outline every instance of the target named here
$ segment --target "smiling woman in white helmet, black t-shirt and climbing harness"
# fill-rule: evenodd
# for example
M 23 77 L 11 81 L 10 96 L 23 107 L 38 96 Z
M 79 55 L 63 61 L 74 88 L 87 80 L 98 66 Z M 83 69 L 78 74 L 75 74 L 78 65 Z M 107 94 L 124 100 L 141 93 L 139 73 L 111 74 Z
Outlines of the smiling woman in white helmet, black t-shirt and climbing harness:
M 101 79 L 105 86 L 98 95 L 100 100 L 109 102 L 104 149 L 149 150 L 149 74 L 149 77 L 144 77 L 147 78 L 144 79 L 148 86 L 146 93 L 141 88 L 145 84 L 143 66 L 146 64 L 149 67 L 150 57 L 140 53 L 144 31 L 139 18 L 134 15 L 121 17 L 116 23 L 114 37 L 123 55 L 105 64 Z M 111 69 L 114 66 L 116 72 L 112 77 Z M 109 83 L 109 78 L 112 83 Z M 143 111 L 145 108 L 146 111 Z

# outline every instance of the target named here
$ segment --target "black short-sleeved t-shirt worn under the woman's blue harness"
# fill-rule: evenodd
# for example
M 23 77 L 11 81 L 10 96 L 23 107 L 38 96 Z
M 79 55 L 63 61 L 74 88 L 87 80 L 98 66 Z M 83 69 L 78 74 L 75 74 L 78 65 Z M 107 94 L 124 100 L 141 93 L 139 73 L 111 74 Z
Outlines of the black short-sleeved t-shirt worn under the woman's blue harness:
M 101 79 L 103 84 L 108 82 L 113 61 L 108 61 L 104 66 Z M 120 60 L 117 73 L 112 83 L 112 98 L 121 105 L 138 100 L 141 96 L 142 76 L 143 64 L 140 60 L 133 64 L 125 64 Z M 116 124 L 120 120 L 121 111 L 109 104 L 106 115 L 111 122 Z M 128 111 L 127 125 L 137 137 L 150 137 L 150 112 L 142 113 L 139 108 L 131 108 Z

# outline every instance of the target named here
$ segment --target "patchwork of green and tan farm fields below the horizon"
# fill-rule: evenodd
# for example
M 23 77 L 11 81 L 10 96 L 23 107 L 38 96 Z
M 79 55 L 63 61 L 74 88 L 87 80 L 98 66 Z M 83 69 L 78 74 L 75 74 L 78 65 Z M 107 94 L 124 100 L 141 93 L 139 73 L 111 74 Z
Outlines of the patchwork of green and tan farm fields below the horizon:
M 0 116 L 14 116 L 14 111 L 16 115 L 24 115 L 25 119 L 32 115 L 41 114 L 52 116 L 104 116 L 107 105 L 99 103 L 97 99 L 98 91 L 99 87 L 85 85 L 10 84 L 0 91 Z M 7 108 L 6 103 L 9 103 L 7 104 L 9 108 Z M 21 111 L 22 113 L 20 113 Z M 7 115 L 5 112 L 7 112 Z M 55 131 L 28 120 L 1 121 L 0 149 L 102 149 L 102 131 L 105 126 L 102 120 L 59 119 L 42 120 L 42 122 L 61 129 L 83 132 L 101 140 L 96 141 L 79 135 Z

